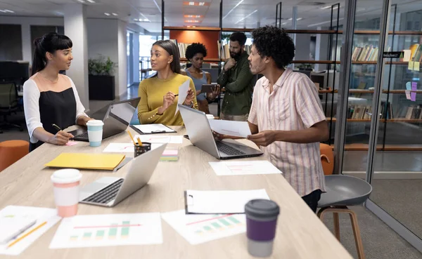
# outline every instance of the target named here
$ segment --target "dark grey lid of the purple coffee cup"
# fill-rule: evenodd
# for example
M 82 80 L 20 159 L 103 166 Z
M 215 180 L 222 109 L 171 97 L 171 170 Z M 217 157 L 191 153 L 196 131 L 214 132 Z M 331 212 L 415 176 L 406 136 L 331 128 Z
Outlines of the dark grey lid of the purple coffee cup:
M 245 213 L 255 218 L 272 218 L 280 213 L 280 207 L 269 199 L 252 199 L 245 204 Z

